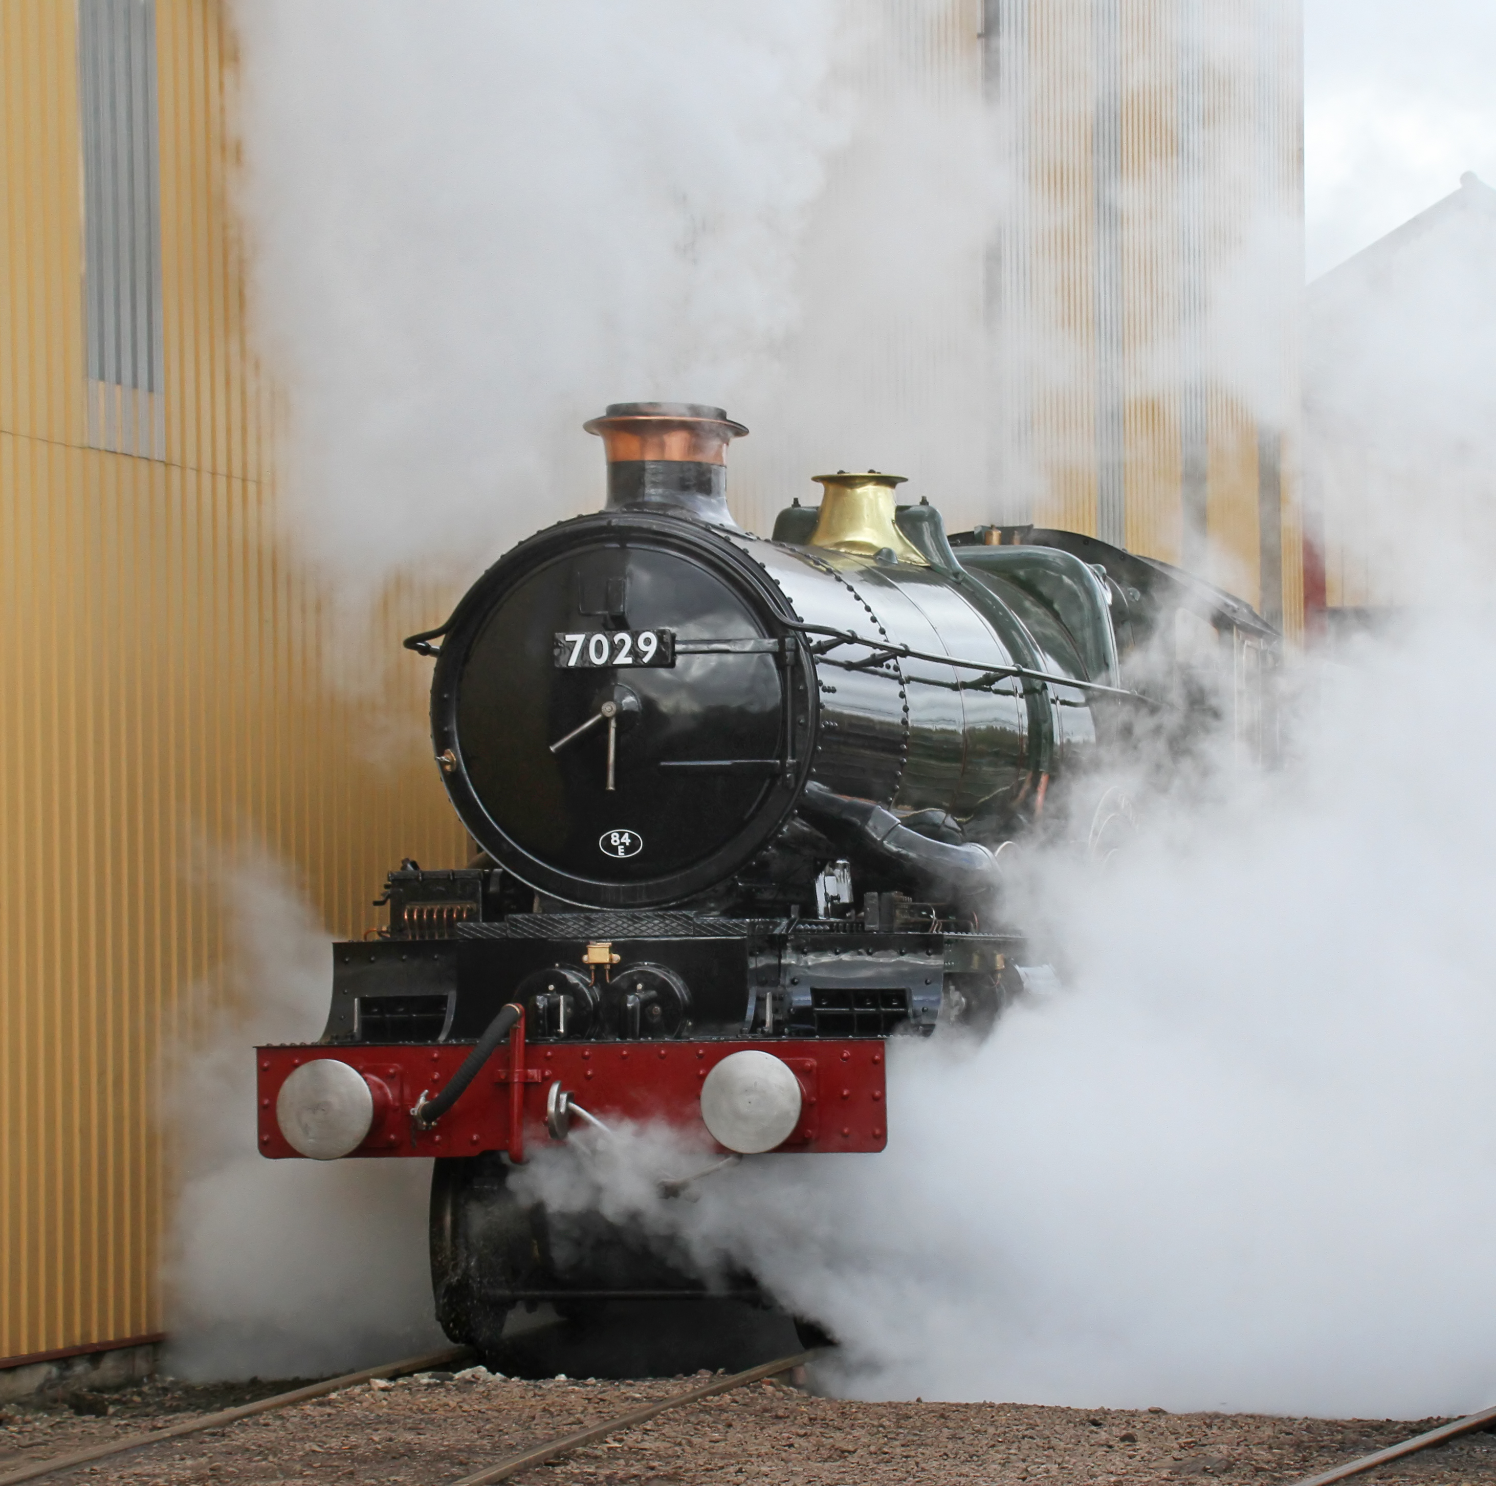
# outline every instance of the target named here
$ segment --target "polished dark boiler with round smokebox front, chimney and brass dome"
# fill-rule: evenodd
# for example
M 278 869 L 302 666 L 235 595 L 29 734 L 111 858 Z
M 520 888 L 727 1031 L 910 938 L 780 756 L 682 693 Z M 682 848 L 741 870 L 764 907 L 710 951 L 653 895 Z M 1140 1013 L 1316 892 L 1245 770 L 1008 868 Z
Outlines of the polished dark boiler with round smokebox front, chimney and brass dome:
M 488 856 L 595 908 L 769 907 L 764 853 L 796 843 L 866 889 L 990 887 L 992 850 L 1119 690 L 1104 578 L 1047 548 L 957 563 L 935 510 L 896 510 L 877 471 L 824 476 L 820 509 L 749 536 L 712 501 L 720 462 L 658 458 L 672 434 L 720 458 L 741 431 L 720 410 L 624 404 L 589 426 L 657 458 L 615 459 L 609 509 L 521 543 L 416 639 L 443 636 L 435 753 Z M 709 474 L 658 473 L 678 465 Z

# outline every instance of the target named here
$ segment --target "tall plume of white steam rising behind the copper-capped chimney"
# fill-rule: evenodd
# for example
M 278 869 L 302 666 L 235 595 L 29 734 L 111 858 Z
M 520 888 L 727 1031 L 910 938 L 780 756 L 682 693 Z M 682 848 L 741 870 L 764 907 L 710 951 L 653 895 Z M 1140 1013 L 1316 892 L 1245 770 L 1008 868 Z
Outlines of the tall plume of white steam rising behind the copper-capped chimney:
M 826 468 L 984 513 L 996 208 L 950 0 L 235 6 L 283 510 L 344 591 L 601 504 L 585 419 L 717 403 L 767 530 Z

